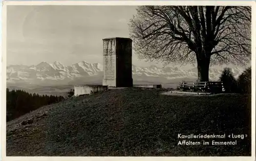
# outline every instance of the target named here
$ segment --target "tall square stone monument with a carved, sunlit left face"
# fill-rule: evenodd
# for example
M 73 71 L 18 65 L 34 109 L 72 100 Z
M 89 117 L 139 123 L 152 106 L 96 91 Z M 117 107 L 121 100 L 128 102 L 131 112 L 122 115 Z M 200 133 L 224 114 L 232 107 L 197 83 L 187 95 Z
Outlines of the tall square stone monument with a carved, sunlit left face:
M 103 83 L 110 87 L 132 87 L 132 39 L 103 39 Z

